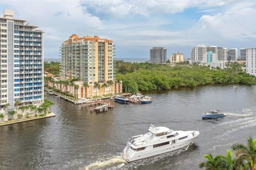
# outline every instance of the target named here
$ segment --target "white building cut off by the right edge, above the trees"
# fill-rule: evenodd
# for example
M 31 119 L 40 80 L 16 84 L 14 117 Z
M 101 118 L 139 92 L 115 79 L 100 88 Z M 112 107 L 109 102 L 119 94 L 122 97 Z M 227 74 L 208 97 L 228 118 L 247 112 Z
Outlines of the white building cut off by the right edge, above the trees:
M 256 76 L 256 48 L 246 49 L 246 73 Z

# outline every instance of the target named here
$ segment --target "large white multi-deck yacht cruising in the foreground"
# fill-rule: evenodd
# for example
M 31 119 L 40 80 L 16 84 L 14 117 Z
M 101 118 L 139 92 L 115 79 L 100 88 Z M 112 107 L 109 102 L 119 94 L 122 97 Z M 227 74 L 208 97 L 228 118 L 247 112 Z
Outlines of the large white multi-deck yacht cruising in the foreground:
M 132 137 L 122 152 L 126 162 L 164 154 L 190 145 L 198 131 L 173 131 L 151 125 L 149 132 Z

